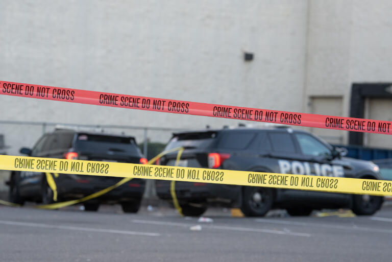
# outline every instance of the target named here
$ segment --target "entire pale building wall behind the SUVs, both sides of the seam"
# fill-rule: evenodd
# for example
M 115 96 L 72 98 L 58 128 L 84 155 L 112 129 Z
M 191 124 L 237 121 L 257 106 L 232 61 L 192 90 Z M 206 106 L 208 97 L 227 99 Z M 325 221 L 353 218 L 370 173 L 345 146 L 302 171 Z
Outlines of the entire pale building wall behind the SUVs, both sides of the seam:
M 11 1 L 0 79 L 310 112 L 353 82 L 392 81 L 388 0 Z M 243 52 L 255 54 L 243 61 Z M 1 120 L 203 128 L 237 121 L 1 97 Z M 324 111 L 324 110 L 322 110 Z M 322 112 L 323 113 L 323 112 Z M 328 114 L 328 106 L 325 109 Z M 41 130 L 0 126 L 15 154 Z M 330 131 L 331 135 L 336 135 Z M 137 138 L 142 132 L 137 133 Z M 347 141 L 347 132 L 342 134 Z M 156 132 L 153 140 L 169 134 Z

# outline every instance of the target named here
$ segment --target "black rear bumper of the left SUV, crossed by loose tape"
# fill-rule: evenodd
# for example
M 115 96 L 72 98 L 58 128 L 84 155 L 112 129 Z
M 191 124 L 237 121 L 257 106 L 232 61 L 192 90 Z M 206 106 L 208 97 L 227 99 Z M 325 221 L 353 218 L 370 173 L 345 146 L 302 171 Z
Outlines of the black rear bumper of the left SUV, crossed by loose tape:
M 70 177 L 67 174 L 60 174 L 55 178 L 57 191 L 61 200 L 70 200 L 82 198 L 102 189 L 116 184 L 122 178 L 99 177 L 91 178 L 90 176 Z M 97 198 L 100 201 L 120 202 L 130 199 L 141 198 L 144 193 L 145 181 L 143 179 L 132 179 L 122 184 L 103 196 Z

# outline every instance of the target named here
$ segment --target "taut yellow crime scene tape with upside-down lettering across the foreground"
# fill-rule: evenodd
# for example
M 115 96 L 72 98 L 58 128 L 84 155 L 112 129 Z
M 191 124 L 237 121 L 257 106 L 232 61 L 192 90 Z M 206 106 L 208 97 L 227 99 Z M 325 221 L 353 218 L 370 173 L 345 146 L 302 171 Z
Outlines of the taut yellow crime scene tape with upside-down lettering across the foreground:
M 153 160 L 150 160 L 150 163 Z M 392 181 L 345 177 L 292 175 L 6 155 L 0 156 L 0 169 L 392 196 Z

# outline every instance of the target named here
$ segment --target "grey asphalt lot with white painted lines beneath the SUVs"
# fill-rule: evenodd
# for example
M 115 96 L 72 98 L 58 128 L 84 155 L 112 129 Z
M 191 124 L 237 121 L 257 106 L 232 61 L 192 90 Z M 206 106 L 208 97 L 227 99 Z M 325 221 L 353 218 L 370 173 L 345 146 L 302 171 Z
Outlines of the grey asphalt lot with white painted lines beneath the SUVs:
M 183 218 L 103 206 L 39 210 L 0 206 L 0 261 L 389 261 L 392 206 L 373 217 L 234 218 L 210 209 Z

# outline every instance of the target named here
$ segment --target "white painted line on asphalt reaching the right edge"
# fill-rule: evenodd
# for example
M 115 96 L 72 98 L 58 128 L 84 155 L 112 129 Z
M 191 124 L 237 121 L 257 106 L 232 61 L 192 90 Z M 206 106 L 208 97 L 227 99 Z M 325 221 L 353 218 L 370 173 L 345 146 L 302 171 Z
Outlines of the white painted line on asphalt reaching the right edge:
M 392 230 L 389 229 L 359 227 L 355 224 L 352 224 L 351 226 L 341 226 L 341 225 L 331 225 L 331 224 L 322 224 L 322 223 L 307 223 L 307 222 L 273 220 L 273 219 L 255 219 L 255 221 L 261 223 L 272 223 L 272 224 L 292 225 L 292 226 L 314 226 L 314 227 L 333 228 L 333 229 L 357 230 L 357 231 L 365 231 L 365 232 L 392 233 Z

